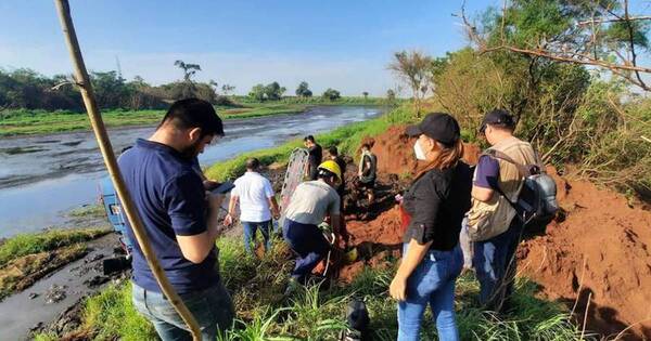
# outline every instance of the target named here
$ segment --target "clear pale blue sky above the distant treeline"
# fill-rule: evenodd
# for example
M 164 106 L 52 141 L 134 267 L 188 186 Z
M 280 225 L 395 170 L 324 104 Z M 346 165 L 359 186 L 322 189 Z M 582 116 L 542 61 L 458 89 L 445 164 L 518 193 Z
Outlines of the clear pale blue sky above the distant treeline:
M 638 2 L 643 2 L 638 0 Z M 470 14 L 500 0 L 467 0 Z M 196 79 L 235 86 L 278 81 L 293 93 L 384 95 L 399 80 L 394 52 L 444 55 L 467 44 L 461 0 L 71 0 L 87 67 L 117 69 L 152 84 L 180 79 L 174 62 L 199 64 Z M 52 0 L 0 2 L 0 67 L 47 76 L 72 66 Z

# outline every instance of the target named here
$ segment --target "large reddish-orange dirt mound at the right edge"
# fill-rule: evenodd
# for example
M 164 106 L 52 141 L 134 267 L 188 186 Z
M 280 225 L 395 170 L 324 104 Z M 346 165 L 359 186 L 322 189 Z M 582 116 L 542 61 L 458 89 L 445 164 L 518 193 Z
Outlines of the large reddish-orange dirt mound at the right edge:
M 651 338 L 651 212 L 616 193 L 557 176 L 564 221 L 523 242 L 520 271 L 550 299 L 576 302 L 587 328 L 614 336 L 624 328 Z

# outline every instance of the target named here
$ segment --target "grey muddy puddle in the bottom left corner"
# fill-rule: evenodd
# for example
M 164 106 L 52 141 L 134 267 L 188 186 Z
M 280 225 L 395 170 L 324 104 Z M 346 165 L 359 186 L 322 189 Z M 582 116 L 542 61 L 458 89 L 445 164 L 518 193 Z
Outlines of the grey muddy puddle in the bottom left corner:
M 0 340 L 27 339 L 29 329 L 38 323 L 48 324 L 82 296 L 101 287 L 89 288 L 84 283 L 101 275 L 97 268 L 101 258 L 110 258 L 117 240 L 111 234 L 89 242 L 92 248 L 85 258 L 72 262 L 26 290 L 0 302 Z M 65 298 L 55 303 L 46 303 L 47 292 L 53 287 L 62 287 Z M 30 299 L 30 294 L 38 294 Z

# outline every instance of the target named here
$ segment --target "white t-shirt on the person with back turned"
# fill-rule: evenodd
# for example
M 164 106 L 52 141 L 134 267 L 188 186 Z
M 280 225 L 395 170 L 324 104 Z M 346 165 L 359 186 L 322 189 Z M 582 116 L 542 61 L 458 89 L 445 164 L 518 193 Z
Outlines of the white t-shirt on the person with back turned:
M 271 220 L 271 182 L 257 172 L 246 172 L 234 182 L 231 195 L 240 198 L 240 221 L 259 223 Z

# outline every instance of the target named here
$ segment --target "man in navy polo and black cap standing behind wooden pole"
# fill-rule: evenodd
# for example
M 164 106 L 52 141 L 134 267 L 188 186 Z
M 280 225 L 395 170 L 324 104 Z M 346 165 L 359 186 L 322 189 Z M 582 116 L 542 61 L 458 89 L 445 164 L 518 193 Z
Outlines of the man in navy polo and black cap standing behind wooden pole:
M 161 267 L 200 324 L 204 340 L 215 340 L 234 315 L 219 278 L 215 247 L 222 197 L 206 196 L 194 170 L 196 156 L 220 135 L 221 120 L 209 103 L 181 100 L 171 105 L 152 136 L 139 139 L 118 160 Z M 130 226 L 127 234 L 135 240 Z M 163 340 L 191 340 L 137 244 L 132 264 L 136 309 Z

